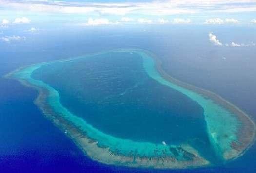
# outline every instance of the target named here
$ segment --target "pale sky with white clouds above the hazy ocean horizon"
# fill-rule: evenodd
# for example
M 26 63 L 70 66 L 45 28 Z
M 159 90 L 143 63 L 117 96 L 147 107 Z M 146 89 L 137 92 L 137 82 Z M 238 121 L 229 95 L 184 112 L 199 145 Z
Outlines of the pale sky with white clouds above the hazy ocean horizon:
M 256 26 L 256 0 L 0 0 L 0 41 L 25 40 L 8 30 L 27 32 L 47 26 L 103 25 L 251 25 Z M 248 46 L 221 43 L 217 46 Z M 254 45 L 253 43 L 251 45 Z

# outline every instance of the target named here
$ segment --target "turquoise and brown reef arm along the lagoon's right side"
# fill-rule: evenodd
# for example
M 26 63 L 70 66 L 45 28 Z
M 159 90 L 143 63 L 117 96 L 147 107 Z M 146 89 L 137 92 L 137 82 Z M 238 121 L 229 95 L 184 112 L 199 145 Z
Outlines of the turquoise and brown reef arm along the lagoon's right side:
M 157 72 L 150 72 L 153 78 L 159 79 L 160 83 L 184 93 L 204 108 L 209 138 L 217 155 L 223 157 L 224 160 L 232 160 L 241 156 L 253 144 L 256 129 L 255 123 L 249 115 L 211 91 L 189 85 L 169 76 L 161 69 L 161 61 L 154 54 L 147 52 L 147 55 L 156 61 Z M 147 55 L 144 57 L 146 58 Z M 149 66 L 154 63 L 151 62 Z M 172 84 L 160 79 L 158 72 L 161 77 Z M 199 95 L 196 96 L 195 93 Z

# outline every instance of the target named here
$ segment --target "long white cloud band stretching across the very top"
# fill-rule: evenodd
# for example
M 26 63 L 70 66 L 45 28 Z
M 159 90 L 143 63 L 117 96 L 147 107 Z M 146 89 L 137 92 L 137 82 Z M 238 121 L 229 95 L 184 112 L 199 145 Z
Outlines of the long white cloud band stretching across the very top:
M 256 0 L 151 0 L 147 2 L 67 2 L 61 0 L 0 0 L 3 10 L 24 14 L 172 15 L 255 12 Z

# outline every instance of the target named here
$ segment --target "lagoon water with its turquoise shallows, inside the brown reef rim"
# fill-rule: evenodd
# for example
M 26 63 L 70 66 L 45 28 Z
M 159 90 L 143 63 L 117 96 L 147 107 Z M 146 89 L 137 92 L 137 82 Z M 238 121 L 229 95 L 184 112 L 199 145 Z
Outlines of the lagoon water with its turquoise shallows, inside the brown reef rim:
M 177 160 L 190 160 L 183 154 L 196 150 L 211 163 L 238 156 L 230 145 L 241 127 L 236 116 L 164 79 L 155 63 L 145 52 L 118 50 L 33 65 L 14 77 L 46 88 L 50 107 L 100 148 Z M 184 145 L 189 149 L 179 151 Z

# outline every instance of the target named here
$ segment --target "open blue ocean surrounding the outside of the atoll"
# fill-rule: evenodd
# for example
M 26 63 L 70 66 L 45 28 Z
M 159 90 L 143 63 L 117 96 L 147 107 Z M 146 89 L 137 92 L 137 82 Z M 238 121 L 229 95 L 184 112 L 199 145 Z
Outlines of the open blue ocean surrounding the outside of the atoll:
M 0 76 L 39 62 L 118 48 L 145 49 L 162 59 L 171 76 L 221 95 L 256 120 L 255 47 L 216 47 L 208 40 L 208 33 L 214 32 L 223 42 L 231 42 L 230 38 L 256 42 L 255 27 L 141 25 L 15 32 L 26 40 L 0 42 Z M 191 170 L 116 167 L 92 161 L 43 117 L 33 104 L 36 96 L 35 90 L 18 81 L 0 78 L 0 173 L 256 172 L 255 144 L 230 163 Z

